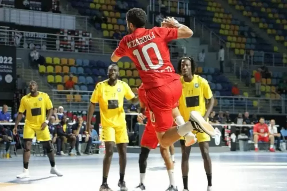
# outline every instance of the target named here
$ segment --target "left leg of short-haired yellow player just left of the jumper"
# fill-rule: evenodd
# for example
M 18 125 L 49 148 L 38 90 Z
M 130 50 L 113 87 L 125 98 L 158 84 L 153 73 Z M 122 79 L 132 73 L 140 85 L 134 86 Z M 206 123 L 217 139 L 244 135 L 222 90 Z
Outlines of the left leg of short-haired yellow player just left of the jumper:
M 102 185 L 100 186 L 100 191 L 113 191 L 108 186 L 107 179 L 108 179 L 108 173 L 110 171 L 110 163 L 112 162 L 112 158 L 113 158 L 114 146 L 115 146 L 115 142 L 113 141 L 105 142 L 106 154 L 104 156 L 104 161 L 103 161 L 103 180 L 102 180 Z

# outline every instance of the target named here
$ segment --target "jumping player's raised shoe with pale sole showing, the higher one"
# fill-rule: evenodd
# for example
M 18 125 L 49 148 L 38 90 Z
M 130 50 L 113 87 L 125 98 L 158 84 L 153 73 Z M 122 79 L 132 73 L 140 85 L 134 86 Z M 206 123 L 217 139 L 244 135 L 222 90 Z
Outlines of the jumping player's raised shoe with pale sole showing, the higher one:
M 193 130 L 198 132 L 205 132 L 210 136 L 215 136 L 215 130 L 197 111 L 191 111 L 189 121 L 193 125 Z

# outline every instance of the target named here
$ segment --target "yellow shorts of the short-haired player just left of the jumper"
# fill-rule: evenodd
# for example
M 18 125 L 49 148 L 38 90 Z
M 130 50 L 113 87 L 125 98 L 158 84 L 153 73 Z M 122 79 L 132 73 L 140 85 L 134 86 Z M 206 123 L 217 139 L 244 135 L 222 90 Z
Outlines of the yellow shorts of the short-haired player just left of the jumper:
M 127 126 L 122 127 L 102 127 L 100 135 L 102 141 L 112 141 L 116 144 L 128 143 L 129 136 L 127 135 Z

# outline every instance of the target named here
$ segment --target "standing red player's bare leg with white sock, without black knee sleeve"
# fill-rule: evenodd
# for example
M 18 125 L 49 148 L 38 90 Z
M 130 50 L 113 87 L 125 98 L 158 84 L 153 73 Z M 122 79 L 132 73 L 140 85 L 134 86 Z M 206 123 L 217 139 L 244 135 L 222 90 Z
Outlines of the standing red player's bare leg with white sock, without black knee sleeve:
M 165 162 L 169 178 L 169 186 L 168 189 L 166 189 L 166 191 L 177 191 L 177 186 L 175 185 L 174 173 L 173 173 L 173 161 L 170 158 L 169 148 L 163 148 L 162 146 L 160 146 L 160 154 L 162 155 L 162 158 Z

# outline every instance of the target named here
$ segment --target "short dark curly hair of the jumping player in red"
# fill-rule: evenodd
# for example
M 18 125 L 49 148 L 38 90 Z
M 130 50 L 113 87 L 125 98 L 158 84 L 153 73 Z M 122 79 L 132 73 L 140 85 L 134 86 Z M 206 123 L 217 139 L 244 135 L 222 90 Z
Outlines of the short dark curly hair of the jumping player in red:
M 135 28 L 144 28 L 146 20 L 147 15 L 143 9 L 132 8 L 127 11 L 127 22 L 133 24 Z

